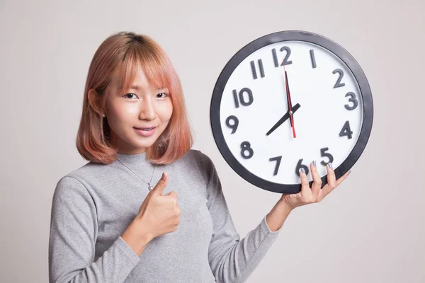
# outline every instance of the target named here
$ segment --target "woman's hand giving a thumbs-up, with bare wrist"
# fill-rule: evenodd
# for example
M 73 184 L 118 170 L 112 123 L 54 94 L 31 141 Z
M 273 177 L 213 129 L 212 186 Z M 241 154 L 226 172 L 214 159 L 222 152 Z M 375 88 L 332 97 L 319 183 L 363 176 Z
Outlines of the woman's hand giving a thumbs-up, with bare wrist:
M 181 209 L 174 191 L 162 195 L 168 184 L 168 175 L 162 173 L 157 185 L 147 194 L 139 213 L 121 236 L 140 255 L 153 238 L 176 231 Z

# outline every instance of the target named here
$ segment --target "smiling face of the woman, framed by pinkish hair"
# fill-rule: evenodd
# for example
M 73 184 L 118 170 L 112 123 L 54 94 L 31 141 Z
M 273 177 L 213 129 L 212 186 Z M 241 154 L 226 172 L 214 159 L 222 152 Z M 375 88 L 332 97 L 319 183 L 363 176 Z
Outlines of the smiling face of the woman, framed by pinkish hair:
M 113 79 L 106 98 L 106 117 L 111 142 L 120 154 L 147 151 L 164 132 L 172 113 L 169 89 L 149 84 L 142 67 L 137 69 L 128 91 L 124 92 Z

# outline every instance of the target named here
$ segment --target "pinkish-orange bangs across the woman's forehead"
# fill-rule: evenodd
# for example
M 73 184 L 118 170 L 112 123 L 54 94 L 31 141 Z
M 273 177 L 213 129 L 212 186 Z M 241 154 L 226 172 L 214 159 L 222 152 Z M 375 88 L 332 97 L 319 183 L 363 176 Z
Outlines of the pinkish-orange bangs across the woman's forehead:
M 171 80 L 169 77 L 169 66 L 167 60 L 157 50 L 149 49 L 147 46 L 133 45 L 123 57 L 123 61 L 117 66 L 117 86 L 123 92 L 130 89 L 135 80 L 137 69 L 140 67 L 150 85 L 155 88 L 169 88 L 171 91 Z M 116 74 L 116 73 L 115 73 Z

